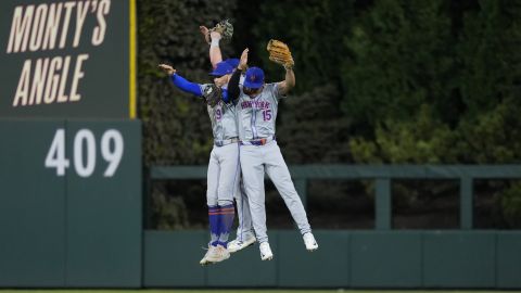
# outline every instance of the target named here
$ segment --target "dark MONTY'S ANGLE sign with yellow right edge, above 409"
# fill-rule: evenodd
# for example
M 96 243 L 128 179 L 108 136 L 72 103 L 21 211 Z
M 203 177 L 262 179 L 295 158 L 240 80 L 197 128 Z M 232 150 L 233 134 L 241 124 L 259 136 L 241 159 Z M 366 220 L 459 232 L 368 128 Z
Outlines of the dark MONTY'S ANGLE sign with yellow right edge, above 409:
M 135 117 L 132 0 L 0 1 L 0 117 Z

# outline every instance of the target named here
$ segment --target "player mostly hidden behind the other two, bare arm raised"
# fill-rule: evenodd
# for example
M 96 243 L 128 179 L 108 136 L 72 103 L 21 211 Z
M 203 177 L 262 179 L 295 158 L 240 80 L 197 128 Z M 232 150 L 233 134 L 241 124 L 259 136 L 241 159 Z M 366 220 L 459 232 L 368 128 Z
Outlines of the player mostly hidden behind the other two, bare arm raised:
M 212 66 L 215 66 L 223 61 L 223 54 L 219 48 L 219 41 L 221 39 L 221 35 L 218 31 L 209 31 L 209 29 L 205 26 L 199 27 L 201 34 L 205 38 L 206 42 L 209 43 L 209 61 Z M 237 67 L 239 64 L 238 59 L 228 59 L 225 60 L 228 64 L 230 64 L 233 68 Z M 242 77 L 240 84 L 242 84 Z M 236 207 L 237 207 L 237 216 L 239 219 L 239 225 L 237 227 L 237 238 L 228 243 L 228 251 L 230 253 L 238 252 L 243 250 L 253 243 L 255 243 L 256 238 L 253 231 L 252 225 L 252 216 L 250 213 L 250 205 L 247 203 L 246 192 L 243 190 L 242 180 L 240 182 L 241 192 L 236 193 Z

